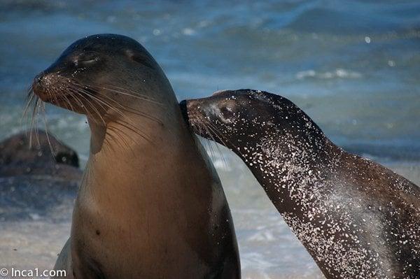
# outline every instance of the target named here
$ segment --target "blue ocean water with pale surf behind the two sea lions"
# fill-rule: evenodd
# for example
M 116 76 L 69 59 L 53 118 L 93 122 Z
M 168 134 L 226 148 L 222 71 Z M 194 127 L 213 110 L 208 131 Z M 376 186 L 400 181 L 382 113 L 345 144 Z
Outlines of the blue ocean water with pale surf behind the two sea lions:
M 99 33 L 141 42 L 179 100 L 222 89 L 281 94 L 338 145 L 420 181 L 419 1 L 1 0 L 0 138 L 25 128 L 20 117 L 36 73 L 76 39 Z M 83 115 L 47 111 L 50 132 L 85 158 Z M 228 166 L 215 162 L 244 277 L 317 276 L 252 176 L 223 152 Z

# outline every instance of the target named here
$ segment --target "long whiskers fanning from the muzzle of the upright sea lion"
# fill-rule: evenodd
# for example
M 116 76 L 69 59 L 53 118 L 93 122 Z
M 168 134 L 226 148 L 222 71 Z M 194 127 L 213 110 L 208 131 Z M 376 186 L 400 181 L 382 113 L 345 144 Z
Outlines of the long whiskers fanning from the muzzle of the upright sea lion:
M 140 99 L 142 101 L 153 103 L 154 105 L 162 106 L 162 103 L 150 96 L 144 96 L 116 85 L 83 85 L 72 78 L 66 78 L 59 75 L 54 75 L 50 78 L 55 78 L 55 85 L 53 87 L 45 87 L 43 88 L 43 91 L 52 103 L 59 103 L 60 106 L 66 109 L 73 110 L 78 113 L 85 113 L 90 120 L 106 126 L 106 134 L 109 135 L 109 138 L 112 138 L 128 148 L 131 148 L 130 143 L 127 141 L 127 137 L 130 138 L 130 133 L 128 133 L 128 131 L 132 131 L 134 134 L 144 138 L 149 143 L 152 143 L 152 141 L 147 134 L 139 129 L 139 123 L 134 123 L 130 120 L 130 117 L 127 117 L 127 113 L 139 115 L 155 123 L 163 125 L 162 121 L 157 117 L 144 113 L 138 108 L 127 106 L 125 103 L 118 101 L 118 98 L 111 98 L 110 96 L 106 96 L 104 93 Z M 32 108 L 29 136 L 30 148 L 34 130 L 39 144 L 38 115 L 41 110 L 48 144 L 50 145 L 52 155 L 54 155 L 55 152 L 48 137 L 48 124 L 45 117 L 45 102 L 34 93 L 33 85 L 31 85 L 28 89 L 27 103 L 22 115 L 22 121 L 28 118 L 30 108 Z M 106 125 L 106 118 L 109 116 L 109 113 L 116 113 L 121 116 L 120 120 L 114 121 L 118 125 Z M 105 141 L 107 143 L 109 143 L 109 138 L 105 137 Z M 108 146 L 112 148 L 112 144 L 108 144 Z

